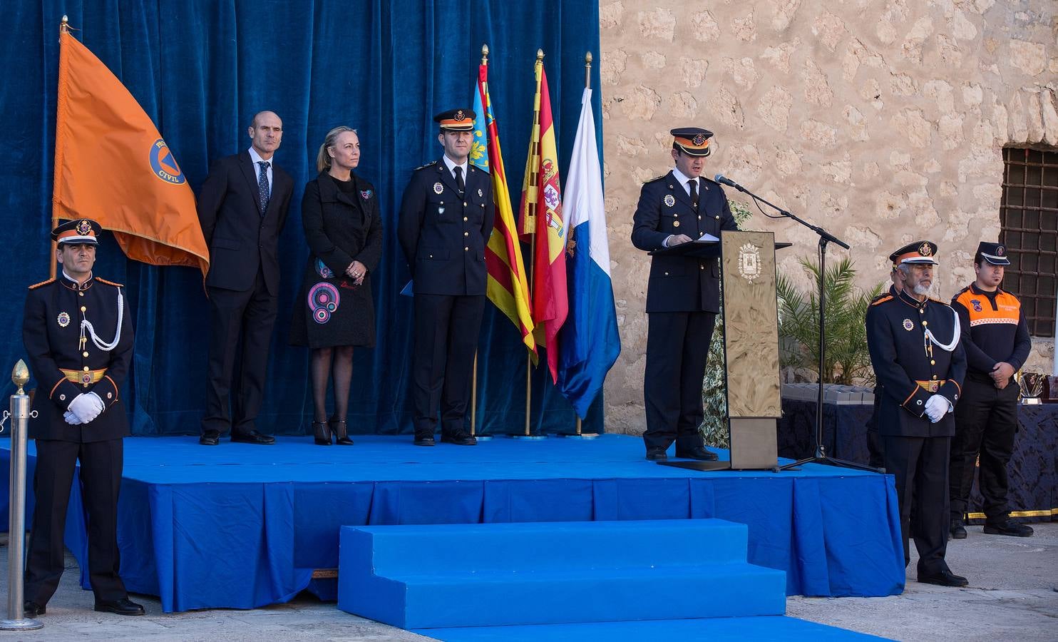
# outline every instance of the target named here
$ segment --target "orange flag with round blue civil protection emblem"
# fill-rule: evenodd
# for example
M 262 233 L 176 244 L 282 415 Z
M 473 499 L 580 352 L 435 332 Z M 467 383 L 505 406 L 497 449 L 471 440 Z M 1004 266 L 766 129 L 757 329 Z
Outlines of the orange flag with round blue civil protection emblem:
M 128 89 L 66 29 L 59 35 L 54 219 L 92 218 L 125 254 L 209 270 L 195 194 Z

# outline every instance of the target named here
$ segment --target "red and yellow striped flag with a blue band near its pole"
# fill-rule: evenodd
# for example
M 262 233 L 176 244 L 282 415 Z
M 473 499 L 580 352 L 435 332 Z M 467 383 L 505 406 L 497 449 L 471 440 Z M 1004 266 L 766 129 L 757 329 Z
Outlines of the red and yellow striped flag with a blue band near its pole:
M 485 170 L 492 178 L 492 198 L 496 207 L 492 236 L 485 248 L 488 270 L 486 293 L 501 313 L 507 315 L 522 335 L 522 341 L 534 354 L 536 342 L 532 337 L 532 309 L 529 304 L 529 280 L 522 261 L 511 193 L 507 188 L 507 173 L 499 150 L 499 128 L 492 113 L 489 97 L 489 67 L 481 64 L 477 71 L 474 90 L 474 146 L 470 162 Z

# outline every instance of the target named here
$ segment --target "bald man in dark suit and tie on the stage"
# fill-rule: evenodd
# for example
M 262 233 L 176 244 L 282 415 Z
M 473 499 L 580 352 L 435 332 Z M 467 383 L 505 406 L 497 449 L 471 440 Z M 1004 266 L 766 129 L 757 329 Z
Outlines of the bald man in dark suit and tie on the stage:
M 232 430 L 233 442 L 272 444 L 255 422 L 264 394 L 269 344 L 279 293 L 279 232 L 294 182 L 272 162 L 282 140 L 282 121 L 256 114 L 250 149 L 214 162 L 198 193 L 202 234 L 209 246 L 209 365 L 205 417 L 199 443 L 216 446 Z M 229 408 L 235 349 L 242 334 L 239 380 Z

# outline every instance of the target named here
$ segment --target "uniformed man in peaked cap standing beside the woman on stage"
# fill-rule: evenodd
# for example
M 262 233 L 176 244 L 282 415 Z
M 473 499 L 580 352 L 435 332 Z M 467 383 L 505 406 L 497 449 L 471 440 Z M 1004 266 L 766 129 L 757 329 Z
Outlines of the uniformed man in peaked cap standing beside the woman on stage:
M 433 446 L 438 410 L 441 441 L 473 446 L 463 427 L 485 310 L 485 246 L 492 233 L 492 181 L 468 162 L 474 112 L 434 117 L 444 147 L 440 161 L 412 174 L 397 235 L 415 291 L 412 404 L 415 445 Z

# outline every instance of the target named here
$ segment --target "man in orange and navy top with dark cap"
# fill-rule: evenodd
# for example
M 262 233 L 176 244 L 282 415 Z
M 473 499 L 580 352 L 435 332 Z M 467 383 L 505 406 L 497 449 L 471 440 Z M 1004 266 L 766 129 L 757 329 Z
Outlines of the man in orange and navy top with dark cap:
M 981 470 L 985 533 L 1028 537 L 1032 527 L 1010 520 L 1006 465 L 1018 430 L 1018 382 L 1033 347 L 1018 298 L 1000 288 L 1010 265 L 1006 248 L 982 243 L 973 257 L 977 280 L 951 300 L 959 313 L 966 349 L 966 385 L 955 408 L 955 438 L 951 442 L 951 536 L 966 537 L 964 513 L 973 484 L 974 463 Z

